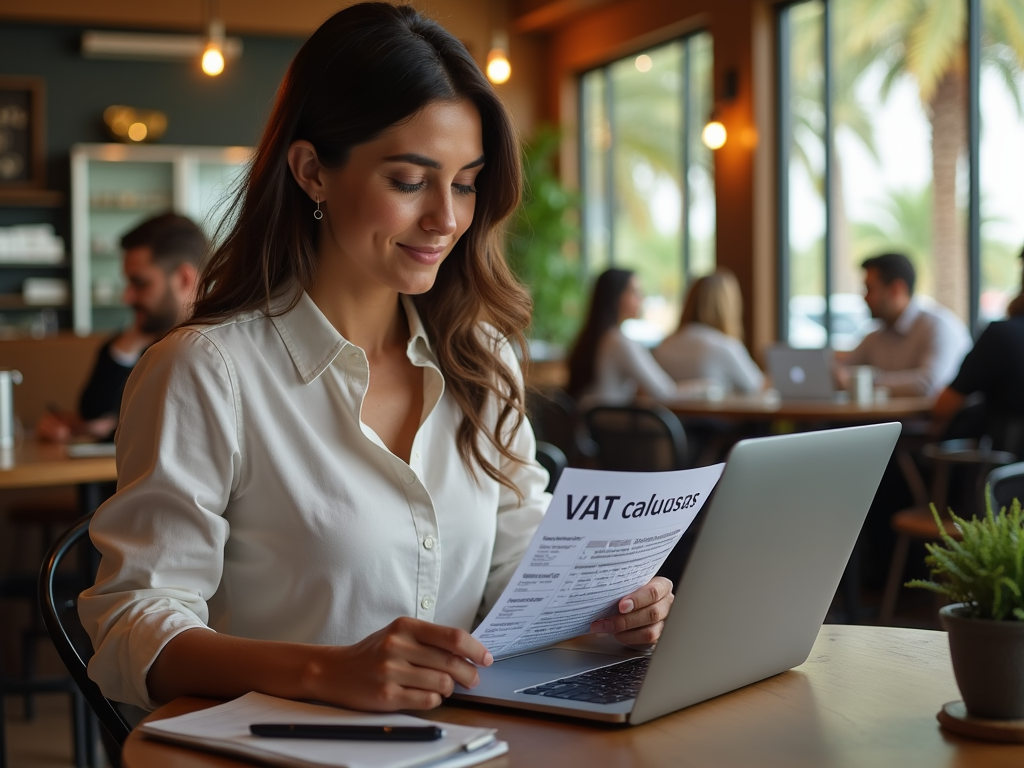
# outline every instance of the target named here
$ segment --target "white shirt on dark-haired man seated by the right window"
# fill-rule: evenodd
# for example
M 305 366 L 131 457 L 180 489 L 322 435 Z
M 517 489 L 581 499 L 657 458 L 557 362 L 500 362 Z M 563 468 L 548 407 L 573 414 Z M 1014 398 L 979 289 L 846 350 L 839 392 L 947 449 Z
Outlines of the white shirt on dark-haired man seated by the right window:
M 876 386 L 894 395 L 933 397 L 956 376 L 971 345 L 967 328 L 949 309 L 913 298 L 896 323 L 867 334 L 844 364 L 873 366 Z

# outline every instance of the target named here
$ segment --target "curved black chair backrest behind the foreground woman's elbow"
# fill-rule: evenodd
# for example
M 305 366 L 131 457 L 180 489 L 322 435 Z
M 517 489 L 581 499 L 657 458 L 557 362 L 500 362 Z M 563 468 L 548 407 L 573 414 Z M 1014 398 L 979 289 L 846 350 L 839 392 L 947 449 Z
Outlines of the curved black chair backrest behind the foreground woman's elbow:
M 75 684 L 89 702 L 100 724 L 110 736 L 121 745 L 128 737 L 131 726 L 122 717 L 117 707 L 103 696 L 99 687 L 89 679 L 86 671 L 92 657 L 92 641 L 78 618 L 78 595 L 59 594 L 56 573 L 60 563 L 70 552 L 91 546 L 89 543 L 89 522 L 92 515 L 86 515 L 60 537 L 46 553 L 43 567 L 39 572 L 39 606 L 43 623 L 53 641 L 60 660 L 71 673 Z

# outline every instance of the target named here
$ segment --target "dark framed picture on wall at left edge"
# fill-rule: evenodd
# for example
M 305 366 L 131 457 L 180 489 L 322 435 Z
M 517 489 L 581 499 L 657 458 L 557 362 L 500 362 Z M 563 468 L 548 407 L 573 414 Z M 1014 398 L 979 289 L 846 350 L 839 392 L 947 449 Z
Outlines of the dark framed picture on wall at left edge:
M 41 78 L 0 75 L 0 190 L 46 185 Z

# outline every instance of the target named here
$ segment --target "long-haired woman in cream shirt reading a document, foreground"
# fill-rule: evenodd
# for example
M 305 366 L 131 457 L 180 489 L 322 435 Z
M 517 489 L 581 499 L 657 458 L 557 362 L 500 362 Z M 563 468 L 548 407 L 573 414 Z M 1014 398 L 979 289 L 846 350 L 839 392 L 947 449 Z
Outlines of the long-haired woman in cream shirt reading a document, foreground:
M 80 613 L 104 694 L 437 706 L 548 497 L 498 250 L 511 122 L 465 47 L 351 6 L 303 45 L 189 327 L 136 366 Z M 593 628 L 652 642 L 651 582 Z

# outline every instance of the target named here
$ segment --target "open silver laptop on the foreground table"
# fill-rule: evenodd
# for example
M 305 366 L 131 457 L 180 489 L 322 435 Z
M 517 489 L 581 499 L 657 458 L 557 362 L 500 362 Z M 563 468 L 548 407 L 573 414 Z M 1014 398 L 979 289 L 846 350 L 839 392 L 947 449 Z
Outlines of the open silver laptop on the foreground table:
M 638 724 L 803 664 L 899 433 L 891 423 L 738 442 L 652 652 L 546 648 L 480 668 L 454 697 Z

